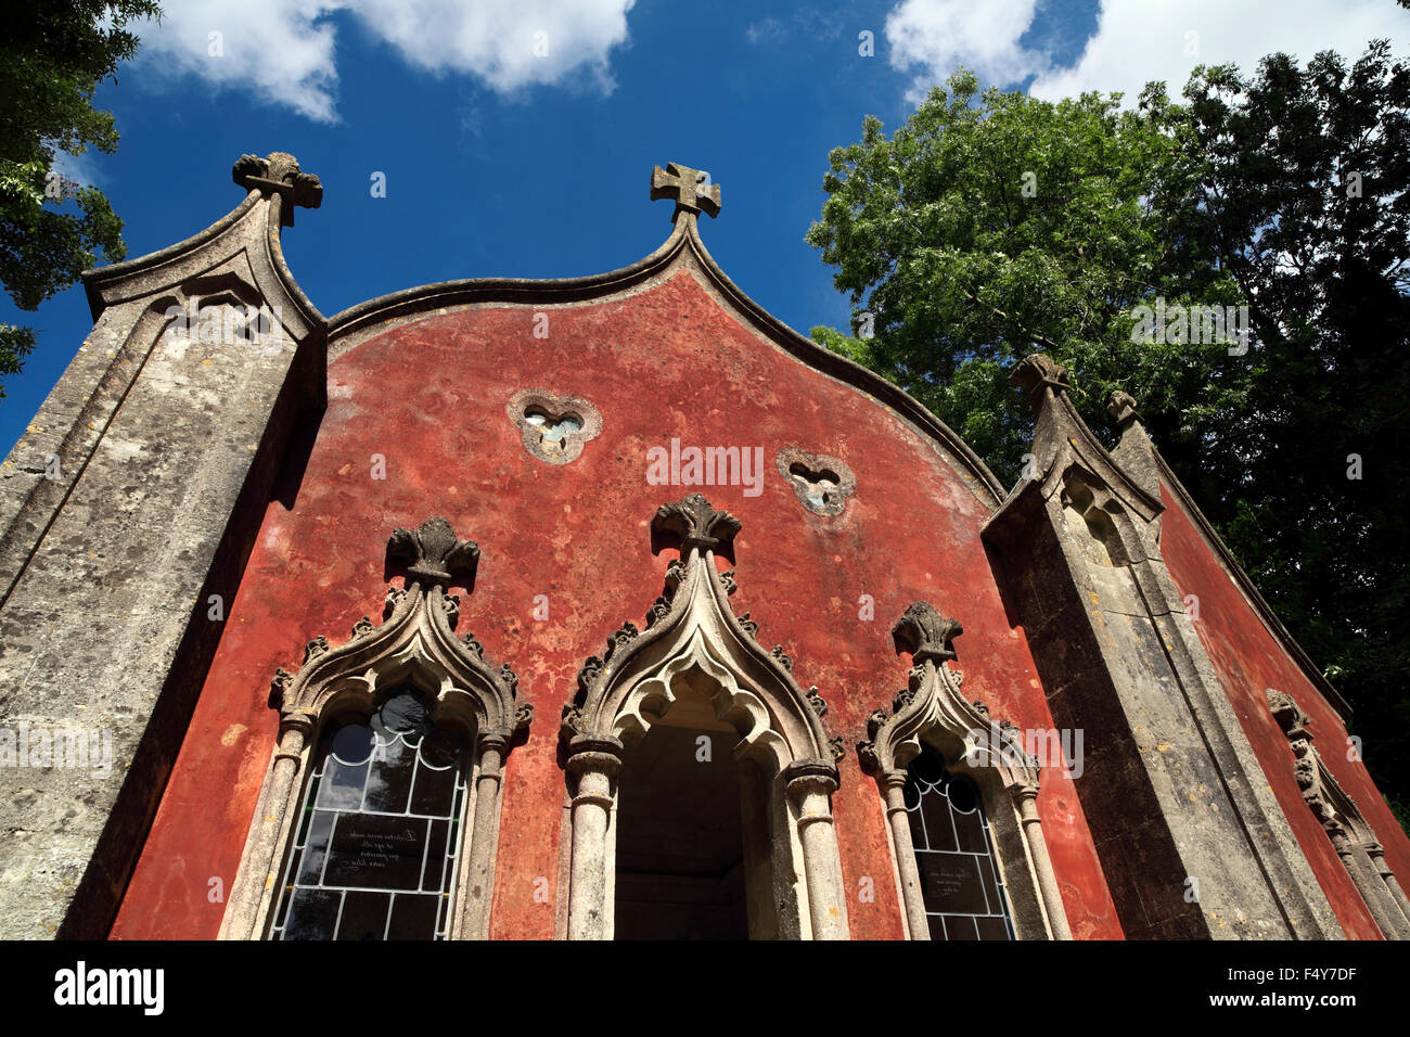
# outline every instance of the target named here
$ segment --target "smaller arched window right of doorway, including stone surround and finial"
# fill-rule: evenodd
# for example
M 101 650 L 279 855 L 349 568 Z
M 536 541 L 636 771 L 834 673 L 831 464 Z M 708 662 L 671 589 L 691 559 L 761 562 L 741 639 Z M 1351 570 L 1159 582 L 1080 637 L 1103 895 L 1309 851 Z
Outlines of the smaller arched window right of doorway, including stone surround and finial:
M 918 601 L 891 629 L 907 687 L 857 746 L 876 776 L 911 940 L 1072 940 L 1038 817 L 1038 766 L 960 694 L 963 628 Z

